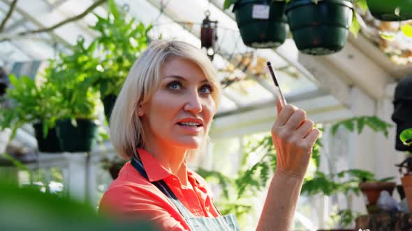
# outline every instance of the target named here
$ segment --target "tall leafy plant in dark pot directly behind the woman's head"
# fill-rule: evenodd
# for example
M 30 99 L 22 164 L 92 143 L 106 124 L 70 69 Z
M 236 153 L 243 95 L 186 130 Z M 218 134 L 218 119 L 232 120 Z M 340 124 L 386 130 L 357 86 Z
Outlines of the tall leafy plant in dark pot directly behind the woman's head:
M 110 0 L 109 6 L 107 17 L 95 14 L 97 22 L 91 26 L 100 34 L 94 40 L 100 61 L 91 73 L 93 86 L 100 91 L 107 119 L 135 59 L 147 47 L 147 32 L 152 27 L 135 23 L 125 10 L 117 8 L 115 1 Z

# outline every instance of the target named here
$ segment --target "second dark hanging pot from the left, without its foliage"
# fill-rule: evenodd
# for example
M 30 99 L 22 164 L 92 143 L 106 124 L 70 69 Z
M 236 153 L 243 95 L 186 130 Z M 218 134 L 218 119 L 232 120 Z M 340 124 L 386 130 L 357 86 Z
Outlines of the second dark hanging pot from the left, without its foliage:
M 75 127 L 71 120 L 56 123 L 57 136 L 64 152 L 89 152 L 96 137 L 97 124 L 94 120 L 77 119 Z

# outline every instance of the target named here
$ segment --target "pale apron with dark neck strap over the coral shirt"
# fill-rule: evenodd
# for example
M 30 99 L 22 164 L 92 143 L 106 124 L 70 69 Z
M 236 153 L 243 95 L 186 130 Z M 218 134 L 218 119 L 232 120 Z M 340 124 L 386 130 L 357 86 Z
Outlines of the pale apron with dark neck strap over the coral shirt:
M 143 167 L 142 162 L 139 159 L 133 157 L 131 160 L 131 165 L 138 170 L 140 175 L 145 177 L 147 180 L 147 173 L 145 167 Z M 175 193 L 169 188 L 169 186 L 163 181 L 159 180 L 152 182 L 165 196 L 167 196 L 170 201 L 179 209 L 180 214 L 184 217 L 186 223 L 189 224 L 189 228 L 193 231 L 205 230 L 205 231 L 240 231 L 237 225 L 235 214 L 228 214 L 225 216 L 218 217 L 203 217 L 203 216 L 193 216 L 189 209 L 186 209 L 182 202 L 177 199 Z M 217 210 L 217 209 L 216 209 Z

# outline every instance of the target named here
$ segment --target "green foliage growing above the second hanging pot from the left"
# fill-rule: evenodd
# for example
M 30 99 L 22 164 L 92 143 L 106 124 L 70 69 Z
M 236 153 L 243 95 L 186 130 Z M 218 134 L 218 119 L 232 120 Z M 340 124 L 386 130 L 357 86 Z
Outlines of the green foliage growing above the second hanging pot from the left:
M 59 110 L 58 119 L 97 118 L 99 95 L 91 88 L 98 65 L 98 59 L 94 58 L 95 49 L 96 42 L 86 46 L 84 38 L 79 38 L 71 49 L 72 54 L 60 54 L 46 68 L 45 82 L 56 89 L 59 99 L 53 105 Z

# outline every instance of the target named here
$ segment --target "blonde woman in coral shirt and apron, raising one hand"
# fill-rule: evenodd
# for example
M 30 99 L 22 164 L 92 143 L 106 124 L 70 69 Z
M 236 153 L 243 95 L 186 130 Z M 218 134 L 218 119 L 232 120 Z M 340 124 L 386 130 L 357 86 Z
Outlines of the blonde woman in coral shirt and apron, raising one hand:
M 110 118 L 112 143 L 131 159 L 101 200 L 101 211 L 147 219 L 160 230 L 238 230 L 221 216 L 202 177 L 186 159 L 207 141 L 221 88 L 203 51 L 185 42 L 149 45 L 119 93 Z M 277 168 L 257 230 L 289 230 L 311 148 L 318 137 L 305 112 L 277 104 L 272 127 Z

